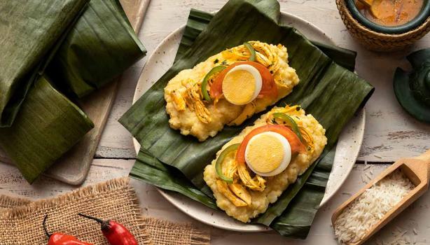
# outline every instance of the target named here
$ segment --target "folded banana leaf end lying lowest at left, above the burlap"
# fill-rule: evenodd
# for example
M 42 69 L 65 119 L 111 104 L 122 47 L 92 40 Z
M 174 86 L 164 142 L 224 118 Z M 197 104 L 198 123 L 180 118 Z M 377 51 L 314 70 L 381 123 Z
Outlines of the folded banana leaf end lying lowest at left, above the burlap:
M 32 183 L 94 125 L 46 78 L 32 85 L 12 127 L 0 129 L 0 147 Z

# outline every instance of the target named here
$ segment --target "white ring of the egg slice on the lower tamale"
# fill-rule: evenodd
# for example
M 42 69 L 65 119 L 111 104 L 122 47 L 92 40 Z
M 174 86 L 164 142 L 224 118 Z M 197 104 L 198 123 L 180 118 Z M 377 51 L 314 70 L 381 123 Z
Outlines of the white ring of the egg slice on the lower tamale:
M 253 141 L 257 140 L 258 137 L 261 137 L 264 134 L 266 134 L 266 135 L 269 134 L 270 136 L 275 137 L 277 140 L 279 140 L 281 142 L 281 144 L 284 148 L 284 158 L 282 159 L 281 164 L 276 169 L 272 170 L 271 172 L 267 172 L 267 173 L 262 173 L 262 172 L 256 171 L 252 167 L 252 165 L 248 159 L 248 146 L 249 146 L 249 144 L 252 144 Z M 268 151 L 268 149 L 262 148 L 261 151 Z M 245 150 L 245 161 L 247 162 L 247 165 L 248 165 L 249 169 L 252 170 L 252 172 L 254 172 L 260 176 L 275 176 L 277 174 L 282 173 L 286 169 L 286 167 L 288 167 L 288 165 L 290 164 L 290 162 L 291 162 L 291 146 L 289 144 L 289 141 L 285 137 L 283 137 L 282 134 L 278 134 L 276 132 L 263 132 L 261 134 L 256 134 L 248 142 L 247 148 Z

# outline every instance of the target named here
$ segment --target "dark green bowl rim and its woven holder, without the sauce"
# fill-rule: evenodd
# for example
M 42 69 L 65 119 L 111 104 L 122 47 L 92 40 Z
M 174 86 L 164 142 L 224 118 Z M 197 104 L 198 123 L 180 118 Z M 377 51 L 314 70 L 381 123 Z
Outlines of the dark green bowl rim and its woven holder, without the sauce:
M 384 27 L 371 22 L 359 12 L 354 0 L 336 0 L 336 5 L 349 33 L 370 50 L 401 50 L 430 31 L 430 0 L 424 0 L 416 18 L 398 27 Z

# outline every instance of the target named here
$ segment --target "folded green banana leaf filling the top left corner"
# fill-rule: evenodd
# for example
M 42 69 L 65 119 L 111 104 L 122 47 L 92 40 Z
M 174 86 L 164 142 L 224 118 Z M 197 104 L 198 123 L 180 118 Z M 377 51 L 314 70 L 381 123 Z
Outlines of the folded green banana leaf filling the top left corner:
M 0 1 L 0 127 L 11 127 L 37 73 L 87 3 Z

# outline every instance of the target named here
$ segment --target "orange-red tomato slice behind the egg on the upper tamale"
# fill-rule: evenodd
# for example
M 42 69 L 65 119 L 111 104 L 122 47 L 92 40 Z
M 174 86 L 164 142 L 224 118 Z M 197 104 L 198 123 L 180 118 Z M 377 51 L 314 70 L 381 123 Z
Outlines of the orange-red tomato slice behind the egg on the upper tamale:
M 230 64 L 226 69 L 223 69 L 218 76 L 216 76 L 214 83 L 212 83 L 209 94 L 211 95 L 211 98 L 213 99 L 219 99 L 221 95 L 223 94 L 223 80 L 228 71 L 233 69 L 235 66 L 241 65 L 241 64 L 249 64 L 251 66 L 254 66 L 261 74 L 261 78 L 263 80 L 263 84 L 261 86 L 260 94 L 258 94 L 258 98 L 261 97 L 272 97 L 275 98 L 278 96 L 278 89 L 275 84 L 275 80 L 273 79 L 272 73 L 270 73 L 269 69 L 267 69 L 265 66 L 263 66 L 260 63 L 257 62 L 236 62 L 233 64 Z

